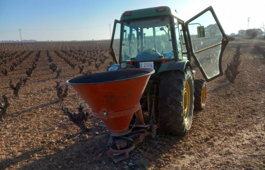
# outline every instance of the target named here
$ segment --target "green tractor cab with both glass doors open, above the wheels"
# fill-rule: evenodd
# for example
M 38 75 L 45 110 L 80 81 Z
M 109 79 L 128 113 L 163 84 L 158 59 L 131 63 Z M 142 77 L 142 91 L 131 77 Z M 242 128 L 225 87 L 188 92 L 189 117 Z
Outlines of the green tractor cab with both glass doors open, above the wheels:
M 108 71 L 153 68 L 155 74 L 191 67 L 195 59 L 206 81 L 222 75 L 228 39 L 212 7 L 184 22 L 169 7 L 125 11 L 114 21 Z

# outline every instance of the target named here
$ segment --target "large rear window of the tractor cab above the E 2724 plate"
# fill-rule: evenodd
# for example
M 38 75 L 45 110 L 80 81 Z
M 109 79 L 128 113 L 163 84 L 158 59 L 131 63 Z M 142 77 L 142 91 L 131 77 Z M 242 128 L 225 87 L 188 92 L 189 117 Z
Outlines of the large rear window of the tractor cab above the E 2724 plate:
M 169 17 L 123 22 L 121 61 L 174 58 Z

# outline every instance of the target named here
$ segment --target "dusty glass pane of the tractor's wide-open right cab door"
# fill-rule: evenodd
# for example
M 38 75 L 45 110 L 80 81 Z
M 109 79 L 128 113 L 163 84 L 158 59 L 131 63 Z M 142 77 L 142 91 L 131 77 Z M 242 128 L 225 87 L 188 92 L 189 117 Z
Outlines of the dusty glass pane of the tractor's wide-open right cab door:
M 193 53 L 198 65 L 211 79 L 220 74 L 219 56 L 221 53 L 223 35 L 211 11 L 207 11 L 188 23 Z

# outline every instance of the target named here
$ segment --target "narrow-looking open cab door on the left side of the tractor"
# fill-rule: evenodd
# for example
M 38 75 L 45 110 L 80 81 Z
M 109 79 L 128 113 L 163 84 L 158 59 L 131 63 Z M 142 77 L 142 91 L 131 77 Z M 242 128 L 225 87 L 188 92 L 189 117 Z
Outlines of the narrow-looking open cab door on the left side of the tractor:
M 116 64 L 119 63 L 120 36 L 121 36 L 121 21 L 114 20 L 113 31 L 111 36 L 111 45 L 109 47 L 109 54 L 111 54 Z

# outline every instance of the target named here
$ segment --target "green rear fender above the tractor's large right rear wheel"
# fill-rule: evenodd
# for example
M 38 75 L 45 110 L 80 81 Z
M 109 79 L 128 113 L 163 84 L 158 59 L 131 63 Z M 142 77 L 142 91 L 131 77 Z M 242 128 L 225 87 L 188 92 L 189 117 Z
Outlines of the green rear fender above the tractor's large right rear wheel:
M 184 70 L 188 66 L 192 69 L 191 62 L 187 61 L 177 61 L 177 62 L 166 62 L 161 65 L 158 70 L 158 73 L 170 70 Z

